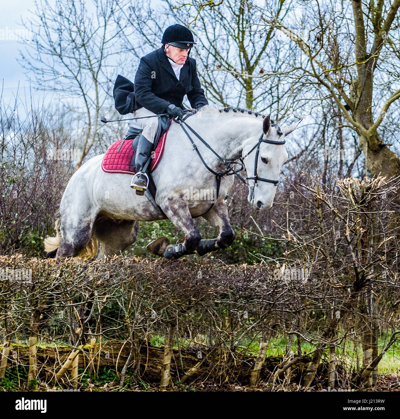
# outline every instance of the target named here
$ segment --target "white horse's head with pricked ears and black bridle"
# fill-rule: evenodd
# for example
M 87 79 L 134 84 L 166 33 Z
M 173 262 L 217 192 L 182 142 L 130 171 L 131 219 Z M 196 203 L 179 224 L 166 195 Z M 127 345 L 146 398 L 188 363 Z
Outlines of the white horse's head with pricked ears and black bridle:
M 271 126 L 270 116 L 262 122 L 262 136 L 250 137 L 243 143 L 243 161 L 249 179 L 248 201 L 254 209 L 271 208 L 283 163 L 288 158 L 285 137 L 301 122 L 285 128 Z

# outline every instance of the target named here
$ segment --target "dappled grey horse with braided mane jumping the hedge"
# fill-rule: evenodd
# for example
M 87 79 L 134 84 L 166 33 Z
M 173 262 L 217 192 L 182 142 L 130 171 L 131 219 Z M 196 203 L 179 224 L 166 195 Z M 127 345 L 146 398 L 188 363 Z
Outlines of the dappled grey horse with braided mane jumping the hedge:
M 284 138 L 301 122 L 281 128 L 271 125 L 269 115 L 259 116 L 249 110 L 225 108 L 224 112 L 205 106 L 184 123 L 171 123 L 162 158 L 152 172 L 155 202 L 149 190 L 143 196 L 134 193 L 132 175 L 104 172 L 104 154 L 86 161 L 62 195 L 57 235 L 44 241 L 47 257 L 102 259 L 121 254 L 135 243 L 139 221 L 166 218 L 182 230 L 184 241 L 171 246 L 168 239 L 157 239 L 156 248 L 153 243 L 148 249 L 159 256 L 178 259 L 227 248 L 235 237 L 226 205 L 235 175 L 244 181 L 239 175 L 243 166 L 254 173 L 244 181 L 249 204 L 256 210 L 272 207 L 288 158 Z M 233 164 L 239 164 L 240 170 Z M 200 216 L 219 228 L 217 238 L 202 240 L 193 221 Z

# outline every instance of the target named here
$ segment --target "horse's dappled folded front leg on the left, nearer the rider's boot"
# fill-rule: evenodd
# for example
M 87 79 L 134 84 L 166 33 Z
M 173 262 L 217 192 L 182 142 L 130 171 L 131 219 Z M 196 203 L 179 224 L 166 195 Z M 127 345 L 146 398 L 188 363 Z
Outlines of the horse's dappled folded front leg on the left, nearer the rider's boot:
M 167 259 L 193 253 L 200 244 L 201 235 L 198 232 L 187 203 L 182 196 L 169 196 L 163 199 L 160 207 L 171 222 L 185 234 L 184 243 L 167 246 L 164 256 Z

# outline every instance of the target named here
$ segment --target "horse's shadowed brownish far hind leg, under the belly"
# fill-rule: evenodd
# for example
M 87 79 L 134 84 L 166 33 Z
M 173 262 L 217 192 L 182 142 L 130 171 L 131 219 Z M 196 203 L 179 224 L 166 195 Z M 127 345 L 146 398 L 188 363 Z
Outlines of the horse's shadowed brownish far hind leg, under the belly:
M 94 223 L 93 234 L 99 241 L 96 259 L 120 254 L 136 241 L 139 221 L 99 218 Z

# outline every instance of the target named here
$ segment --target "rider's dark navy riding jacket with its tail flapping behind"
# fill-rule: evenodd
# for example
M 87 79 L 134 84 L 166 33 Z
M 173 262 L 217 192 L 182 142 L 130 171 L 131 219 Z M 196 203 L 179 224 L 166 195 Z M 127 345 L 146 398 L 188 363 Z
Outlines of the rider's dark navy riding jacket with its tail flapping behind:
M 118 75 L 113 94 L 115 108 L 121 115 L 142 107 L 162 114 L 170 103 L 183 107 L 185 95 L 192 108 L 208 105 L 197 76 L 195 59 L 187 57 L 178 80 L 163 48 L 140 59 L 135 85 Z

